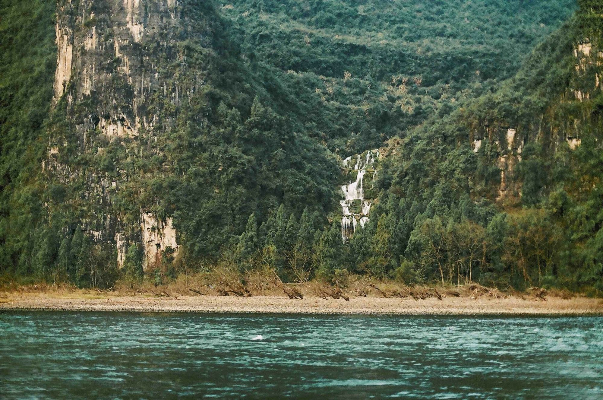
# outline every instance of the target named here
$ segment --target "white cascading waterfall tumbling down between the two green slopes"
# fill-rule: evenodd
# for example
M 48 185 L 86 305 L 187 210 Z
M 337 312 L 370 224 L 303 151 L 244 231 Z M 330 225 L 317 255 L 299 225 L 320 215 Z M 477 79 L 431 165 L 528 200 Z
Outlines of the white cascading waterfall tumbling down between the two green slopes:
M 350 183 L 341 186 L 344 200 L 341 200 L 339 204 L 341 205 L 342 214 L 341 239 L 344 243 L 346 243 L 347 238 L 352 237 L 356 230 L 357 224 L 360 224 L 360 226 L 364 228 L 365 224 L 367 224 L 369 221 L 368 214 L 371 210 L 371 202 L 370 200 L 364 199 L 363 181 L 364 176 L 367 173 L 367 169 L 373 167 L 377 157 L 379 157 L 378 150 L 368 150 L 366 157 L 362 157 L 362 154 L 357 154 L 353 167 L 355 171 L 358 171 L 358 173 L 356 173 L 356 180 L 354 182 L 350 180 Z M 343 168 L 350 168 L 350 165 L 353 162 L 352 159 L 353 156 L 350 156 L 343 160 Z M 373 171 L 373 185 L 376 176 L 377 171 Z M 361 200 L 361 211 L 359 213 L 350 212 L 350 207 L 352 207 L 354 200 Z

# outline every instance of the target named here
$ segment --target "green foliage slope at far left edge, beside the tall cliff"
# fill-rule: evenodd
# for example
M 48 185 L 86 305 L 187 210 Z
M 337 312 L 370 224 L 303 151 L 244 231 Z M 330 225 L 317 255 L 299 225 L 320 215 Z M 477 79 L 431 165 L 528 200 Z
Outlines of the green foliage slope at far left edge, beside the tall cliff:
M 0 2 L 0 265 L 31 251 L 56 68 L 54 2 Z

